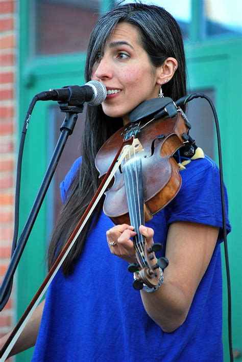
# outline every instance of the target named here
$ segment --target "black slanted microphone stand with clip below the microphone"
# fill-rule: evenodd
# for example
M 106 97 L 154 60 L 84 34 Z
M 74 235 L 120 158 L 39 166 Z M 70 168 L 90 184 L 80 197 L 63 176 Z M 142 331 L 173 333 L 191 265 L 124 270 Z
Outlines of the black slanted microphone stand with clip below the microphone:
M 3 283 L 0 288 L 0 310 L 2 310 L 4 308 L 4 306 L 6 305 L 8 299 L 10 297 L 15 270 L 17 268 L 17 265 L 19 263 L 21 255 L 23 253 L 23 250 L 26 246 L 26 243 L 28 241 L 28 238 L 29 238 L 32 228 L 34 226 L 36 217 L 39 213 L 39 210 L 40 210 L 40 207 L 44 200 L 45 194 L 50 186 L 51 180 L 53 178 L 56 167 L 60 160 L 60 156 L 65 147 L 66 141 L 67 141 L 69 135 L 72 134 L 72 132 L 74 130 L 74 127 L 75 127 L 77 119 L 78 119 L 78 114 L 83 112 L 83 105 L 79 104 L 79 107 L 76 107 L 76 106 L 69 105 L 68 103 L 63 103 L 63 102 L 58 102 L 58 103 L 60 104 L 61 112 L 66 112 L 66 117 L 60 128 L 61 134 L 60 134 L 59 140 L 56 144 L 50 164 L 47 167 L 44 178 L 42 180 L 39 191 L 37 193 L 36 199 L 34 201 L 32 209 L 30 211 L 29 217 L 28 217 L 25 227 L 23 228 L 23 231 L 19 237 L 18 243 L 15 247 L 14 253 L 10 260 L 7 272 L 3 279 Z

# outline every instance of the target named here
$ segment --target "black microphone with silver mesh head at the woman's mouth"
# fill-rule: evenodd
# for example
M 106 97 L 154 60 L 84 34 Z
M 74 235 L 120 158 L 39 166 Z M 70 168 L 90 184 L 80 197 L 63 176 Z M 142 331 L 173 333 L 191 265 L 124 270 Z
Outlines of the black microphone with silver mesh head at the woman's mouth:
M 90 80 L 85 85 L 69 85 L 59 89 L 40 92 L 35 97 L 38 101 L 68 102 L 69 105 L 80 106 L 84 102 L 92 106 L 101 104 L 107 97 L 106 87 L 96 80 Z

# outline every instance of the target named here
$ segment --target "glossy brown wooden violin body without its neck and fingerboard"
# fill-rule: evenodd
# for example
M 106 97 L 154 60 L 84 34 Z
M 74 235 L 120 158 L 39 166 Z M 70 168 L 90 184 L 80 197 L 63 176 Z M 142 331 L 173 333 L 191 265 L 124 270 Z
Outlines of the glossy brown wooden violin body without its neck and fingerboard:
M 184 145 L 188 130 L 187 120 L 180 112 L 173 118 L 131 123 L 115 132 L 96 155 L 96 168 L 103 177 L 124 138 L 136 134 L 131 157 L 135 154 L 142 163 L 145 221 L 165 207 L 180 190 L 181 176 L 173 154 Z M 122 167 L 115 173 L 105 195 L 104 213 L 115 224 L 130 224 Z

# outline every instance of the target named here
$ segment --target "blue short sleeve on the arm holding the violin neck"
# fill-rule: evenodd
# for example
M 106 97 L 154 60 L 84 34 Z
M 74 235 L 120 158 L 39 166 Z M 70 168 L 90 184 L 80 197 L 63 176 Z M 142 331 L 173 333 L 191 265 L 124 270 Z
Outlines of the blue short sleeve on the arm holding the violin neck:
M 223 230 L 220 173 L 215 163 L 205 157 L 191 161 L 180 172 L 182 186 L 176 197 L 165 208 L 168 224 L 190 221 L 212 225 Z M 228 219 L 228 197 L 225 190 L 226 231 L 231 231 Z M 221 232 L 220 232 L 221 234 Z

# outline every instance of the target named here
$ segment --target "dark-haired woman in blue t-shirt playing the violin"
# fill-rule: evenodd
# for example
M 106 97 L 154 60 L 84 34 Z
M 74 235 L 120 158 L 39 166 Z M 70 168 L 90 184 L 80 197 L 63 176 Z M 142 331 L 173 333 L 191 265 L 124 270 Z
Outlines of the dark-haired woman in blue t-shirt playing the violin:
M 186 94 L 183 42 L 174 18 L 142 4 L 109 11 L 91 34 L 90 79 L 101 81 L 108 96 L 101 106 L 87 108 L 83 157 L 61 185 L 64 207 L 49 266 L 98 187 L 94 160 L 102 144 L 141 102 L 162 93 L 174 100 Z M 149 292 L 132 288 L 127 262 L 136 260 L 133 227 L 113 227 L 101 205 L 13 353 L 35 344 L 42 316 L 33 361 L 223 360 L 219 172 L 201 152 L 181 176 L 174 200 L 140 227 L 148 244 L 164 245 L 170 264 L 163 284 Z

